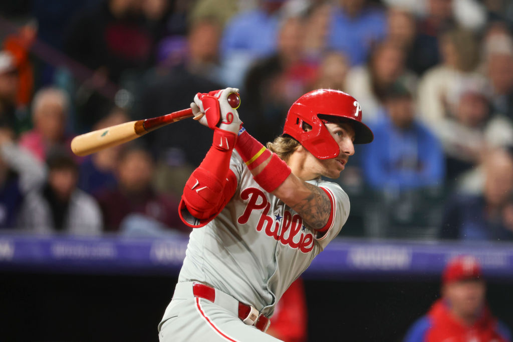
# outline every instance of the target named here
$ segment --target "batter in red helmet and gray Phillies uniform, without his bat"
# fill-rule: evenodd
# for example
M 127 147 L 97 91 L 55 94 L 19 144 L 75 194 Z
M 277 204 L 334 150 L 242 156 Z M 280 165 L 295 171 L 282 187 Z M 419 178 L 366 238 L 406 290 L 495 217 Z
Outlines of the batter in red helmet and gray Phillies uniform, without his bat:
M 276 303 L 349 215 L 347 194 L 321 176 L 339 177 L 353 144 L 373 139 L 356 99 L 321 89 L 294 102 L 283 134 L 265 148 L 228 104 L 237 91 L 198 93 L 191 103 L 213 143 L 180 203 L 196 229 L 161 342 L 278 341 L 265 334 Z

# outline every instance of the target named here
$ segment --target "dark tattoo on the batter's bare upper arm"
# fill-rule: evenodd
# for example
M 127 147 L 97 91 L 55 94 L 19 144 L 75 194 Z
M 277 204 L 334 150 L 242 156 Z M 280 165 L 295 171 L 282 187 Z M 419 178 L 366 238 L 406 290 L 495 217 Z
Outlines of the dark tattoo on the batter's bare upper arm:
M 331 211 L 331 202 L 328 195 L 319 187 L 305 183 L 311 193 L 300 199 L 291 208 L 294 209 L 303 221 L 313 229 L 321 229 L 328 222 Z

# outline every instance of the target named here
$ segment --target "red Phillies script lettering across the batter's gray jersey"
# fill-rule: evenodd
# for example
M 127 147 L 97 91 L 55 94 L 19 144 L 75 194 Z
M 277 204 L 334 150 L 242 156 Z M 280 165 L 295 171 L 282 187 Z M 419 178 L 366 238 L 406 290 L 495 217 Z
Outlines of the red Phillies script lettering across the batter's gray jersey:
M 272 216 L 267 215 L 271 204 L 264 193 L 257 188 L 245 189 L 241 193 L 241 198 L 243 200 L 249 199 L 249 202 L 246 205 L 244 213 L 237 219 L 238 223 L 241 225 L 247 223 L 249 215 L 251 215 L 253 210 L 263 209 L 257 225 L 257 231 L 264 231 L 267 236 L 274 237 L 275 240 L 278 240 L 283 245 L 289 245 L 292 248 L 297 248 L 303 253 L 308 253 L 313 249 L 313 235 L 312 233 L 305 234 L 305 232 L 302 232 L 305 228 L 303 226 L 301 216 L 298 214 L 294 214 L 294 216 L 292 216 L 292 214 L 286 210 L 283 217 L 280 215 L 274 215 L 275 219 L 273 219 Z M 283 223 L 281 223 L 282 219 Z M 282 231 L 281 233 L 278 233 L 280 230 L 280 224 L 282 225 Z M 295 241 L 298 241 L 298 239 L 299 241 L 295 242 L 294 238 Z

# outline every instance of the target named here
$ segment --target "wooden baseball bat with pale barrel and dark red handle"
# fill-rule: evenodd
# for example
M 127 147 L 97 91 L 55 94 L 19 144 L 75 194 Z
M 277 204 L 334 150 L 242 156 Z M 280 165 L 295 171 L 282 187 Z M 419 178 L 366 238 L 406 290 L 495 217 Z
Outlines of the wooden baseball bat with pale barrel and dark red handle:
M 240 100 L 238 94 L 228 95 L 228 103 L 232 108 L 239 107 Z M 78 156 L 85 156 L 108 147 L 127 143 L 157 128 L 192 116 L 192 109 L 187 108 L 167 115 L 131 121 L 77 135 L 71 140 L 71 150 Z M 203 114 L 200 113 L 194 116 L 194 119 L 198 120 L 202 116 Z

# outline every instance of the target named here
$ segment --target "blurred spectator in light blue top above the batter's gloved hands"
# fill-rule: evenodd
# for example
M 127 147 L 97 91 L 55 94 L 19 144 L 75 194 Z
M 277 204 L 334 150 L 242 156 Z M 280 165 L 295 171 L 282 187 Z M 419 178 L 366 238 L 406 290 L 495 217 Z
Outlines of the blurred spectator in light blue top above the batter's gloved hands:
M 276 51 L 279 10 L 284 2 L 258 0 L 257 8 L 237 13 L 231 18 L 220 46 L 223 83 L 242 88 L 243 77 L 251 62 Z

